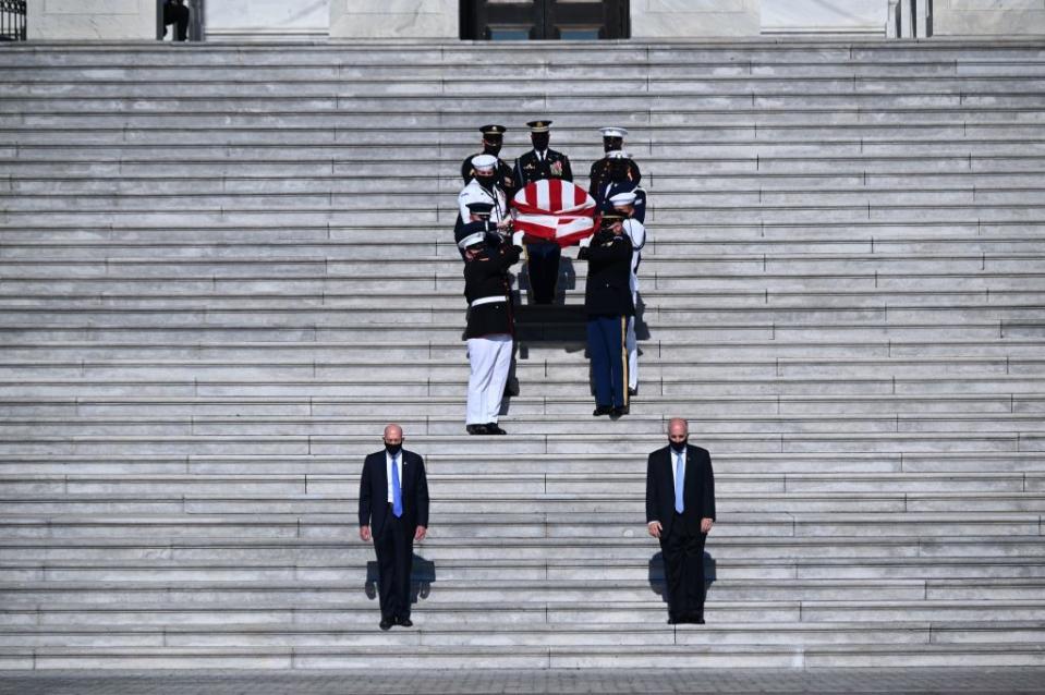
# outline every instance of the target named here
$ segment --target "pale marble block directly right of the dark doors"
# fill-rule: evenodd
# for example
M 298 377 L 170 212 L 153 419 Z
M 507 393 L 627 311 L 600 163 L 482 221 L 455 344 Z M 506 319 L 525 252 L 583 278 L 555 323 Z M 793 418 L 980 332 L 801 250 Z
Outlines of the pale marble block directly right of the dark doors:
M 632 0 L 634 38 L 757 36 L 760 0 Z

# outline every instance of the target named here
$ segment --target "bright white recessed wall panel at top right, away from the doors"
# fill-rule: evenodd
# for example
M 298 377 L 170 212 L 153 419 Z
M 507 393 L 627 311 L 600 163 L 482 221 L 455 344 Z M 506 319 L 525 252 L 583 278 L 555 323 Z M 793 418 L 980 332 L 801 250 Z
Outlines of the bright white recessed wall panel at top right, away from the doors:
M 886 0 L 762 0 L 762 32 L 885 34 Z

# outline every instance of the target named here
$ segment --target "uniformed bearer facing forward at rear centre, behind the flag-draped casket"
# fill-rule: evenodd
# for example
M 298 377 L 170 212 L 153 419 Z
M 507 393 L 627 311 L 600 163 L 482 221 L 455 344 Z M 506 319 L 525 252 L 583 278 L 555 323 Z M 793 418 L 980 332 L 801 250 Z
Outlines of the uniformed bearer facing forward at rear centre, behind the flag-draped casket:
M 570 159 L 548 147 L 551 141 L 551 121 L 530 121 L 530 141 L 533 149 L 515 160 L 515 190 L 544 179 L 573 181 Z M 559 281 L 559 245 L 544 240 L 527 240 L 526 271 L 534 304 L 551 304 Z

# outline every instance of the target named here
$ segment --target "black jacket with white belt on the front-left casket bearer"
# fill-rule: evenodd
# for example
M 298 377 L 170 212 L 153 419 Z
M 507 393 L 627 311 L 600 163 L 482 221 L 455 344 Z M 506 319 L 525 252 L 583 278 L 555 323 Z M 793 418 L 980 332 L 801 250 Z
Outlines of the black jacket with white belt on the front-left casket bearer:
M 469 301 L 465 340 L 514 334 L 508 269 L 519 263 L 520 252 L 518 246 L 502 244 L 464 264 L 464 297 Z

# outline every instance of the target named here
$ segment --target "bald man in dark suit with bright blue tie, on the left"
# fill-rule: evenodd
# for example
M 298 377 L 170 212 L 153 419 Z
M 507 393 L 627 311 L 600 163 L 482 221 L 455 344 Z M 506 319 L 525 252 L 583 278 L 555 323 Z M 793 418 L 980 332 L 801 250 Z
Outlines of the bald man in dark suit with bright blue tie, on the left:
M 369 454 L 360 477 L 360 538 L 377 551 L 381 630 L 410 627 L 410 571 L 414 540 L 428 533 L 424 460 L 403 449 L 403 429 L 385 428 L 385 450 Z

